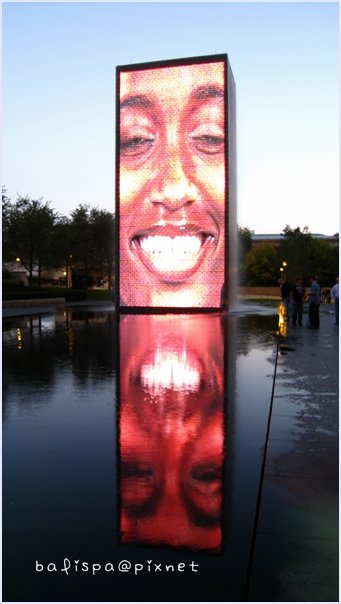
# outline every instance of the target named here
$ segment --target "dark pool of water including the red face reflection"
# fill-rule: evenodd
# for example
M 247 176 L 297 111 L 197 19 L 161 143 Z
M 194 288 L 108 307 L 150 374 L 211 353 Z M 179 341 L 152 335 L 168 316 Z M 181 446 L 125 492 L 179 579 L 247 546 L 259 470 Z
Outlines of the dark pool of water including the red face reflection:
M 243 599 L 274 313 L 4 319 L 5 601 Z

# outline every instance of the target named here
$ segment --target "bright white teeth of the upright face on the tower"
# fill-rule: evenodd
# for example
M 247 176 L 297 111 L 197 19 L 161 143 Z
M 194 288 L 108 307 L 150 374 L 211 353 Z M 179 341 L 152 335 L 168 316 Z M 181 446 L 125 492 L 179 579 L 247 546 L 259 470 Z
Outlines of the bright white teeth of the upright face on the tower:
M 158 270 L 185 270 L 197 260 L 202 246 L 199 235 L 141 237 L 140 246 Z

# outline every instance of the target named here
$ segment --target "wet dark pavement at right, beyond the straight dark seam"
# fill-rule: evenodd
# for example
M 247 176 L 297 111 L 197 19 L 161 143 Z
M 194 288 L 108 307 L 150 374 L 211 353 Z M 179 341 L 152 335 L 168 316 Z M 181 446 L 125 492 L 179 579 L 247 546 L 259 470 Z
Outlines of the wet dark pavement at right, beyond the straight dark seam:
M 279 347 L 249 601 L 339 601 L 339 329 L 287 325 Z

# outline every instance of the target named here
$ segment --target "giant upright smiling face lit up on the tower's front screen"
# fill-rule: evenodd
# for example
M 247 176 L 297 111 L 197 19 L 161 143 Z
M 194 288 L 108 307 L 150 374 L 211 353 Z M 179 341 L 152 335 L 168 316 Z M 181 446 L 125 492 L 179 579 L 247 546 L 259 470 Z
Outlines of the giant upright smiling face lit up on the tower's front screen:
M 120 73 L 120 303 L 219 307 L 224 62 Z

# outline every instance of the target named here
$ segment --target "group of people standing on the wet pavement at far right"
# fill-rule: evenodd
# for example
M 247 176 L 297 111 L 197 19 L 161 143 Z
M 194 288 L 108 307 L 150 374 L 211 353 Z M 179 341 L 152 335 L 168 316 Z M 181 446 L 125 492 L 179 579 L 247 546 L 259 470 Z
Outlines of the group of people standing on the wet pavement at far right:
M 285 307 L 286 320 L 293 327 L 303 326 L 304 302 L 308 302 L 307 327 L 318 329 L 320 327 L 320 304 L 322 301 L 321 286 L 318 277 L 310 278 L 310 287 L 306 288 L 302 277 L 296 277 L 295 283 L 291 285 L 285 277 L 279 279 L 281 298 Z M 331 302 L 334 303 L 335 325 L 339 324 L 339 278 L 336 277 L 335 284 L 330 291 Z

